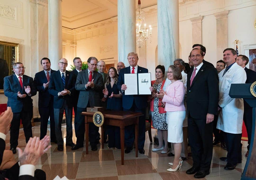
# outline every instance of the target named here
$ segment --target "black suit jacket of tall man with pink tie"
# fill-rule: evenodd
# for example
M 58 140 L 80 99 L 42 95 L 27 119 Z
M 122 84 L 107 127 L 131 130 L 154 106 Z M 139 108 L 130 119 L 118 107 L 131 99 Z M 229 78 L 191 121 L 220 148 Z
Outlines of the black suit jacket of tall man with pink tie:
M 207 113 L 217 115 L 219 101 L 217 70 L 203 64 L 190 87 L 193 71 L 194 69 L 187 75 L 187 113 L 194 119 L 206 119 Z

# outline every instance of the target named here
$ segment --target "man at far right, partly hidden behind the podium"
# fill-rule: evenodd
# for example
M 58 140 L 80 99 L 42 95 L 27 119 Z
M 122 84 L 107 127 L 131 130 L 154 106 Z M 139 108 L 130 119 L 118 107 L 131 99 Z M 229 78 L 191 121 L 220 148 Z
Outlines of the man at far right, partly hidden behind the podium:
M 256 72 L 245 67 L 249 62 L 249 58 L 245 55 L 238 55 L 236 62 L 246 72 L 247 79 L 246 79 L 245 83 L 255 82 L 256 81 Z M 245 157 L 248 157 L 251 136 L 252 136 L 252 107 L 250 107 L 246 101 L 243 101 L 243 106 L 244 106 L 243 122 L 244 122 L 244 125 L 246 126 L 246 131 L 247 131 L 247 135 L 248 135 L 248 146 L 247 146 L 247 152 L 245 154 Z

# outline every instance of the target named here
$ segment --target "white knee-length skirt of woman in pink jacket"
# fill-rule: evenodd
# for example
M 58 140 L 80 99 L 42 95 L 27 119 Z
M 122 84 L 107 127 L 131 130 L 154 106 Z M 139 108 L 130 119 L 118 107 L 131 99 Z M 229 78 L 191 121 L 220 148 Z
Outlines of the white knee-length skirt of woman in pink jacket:
M 186 117 L 186 111 L 166 112 L 166 123 L 168 125 L 168 142 L 183 142 L 183 121 Z

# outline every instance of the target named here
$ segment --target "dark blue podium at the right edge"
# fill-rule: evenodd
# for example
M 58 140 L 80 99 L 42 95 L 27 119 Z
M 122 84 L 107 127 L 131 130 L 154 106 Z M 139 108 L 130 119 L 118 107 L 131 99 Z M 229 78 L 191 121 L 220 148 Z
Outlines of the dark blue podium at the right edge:
M 252 136 L 250 142 L 249 155 L 244 167 L 241 179 L 256 179 L 256 133 L 255 133 L 255 118 L 256 118 L 256 97 L 250 91 L 252 84 L 231 84 L 229 96 L 231 98 L 243 98 L 252 110 Z

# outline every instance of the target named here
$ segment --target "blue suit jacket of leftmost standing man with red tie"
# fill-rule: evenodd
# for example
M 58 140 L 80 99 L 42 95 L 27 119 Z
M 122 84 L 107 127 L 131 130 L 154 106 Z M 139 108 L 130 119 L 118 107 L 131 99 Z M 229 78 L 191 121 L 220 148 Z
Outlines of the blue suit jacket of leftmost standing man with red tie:
M 30 86 L 31 96 L 25 92 L 24 86 Z M 19 98 L 18 91 L 20 94 L 26 94 L 27 96 Z M 13 113 L 21 112 L 22 110 L 32 111 L 33 103 L 31 97 L 36 95 L 33 78 L 23 75 L 23 88 L 21 88 L 15 74 L 4 77 L 4 95 L 8 97 L 7 107 L 11 107 Z

